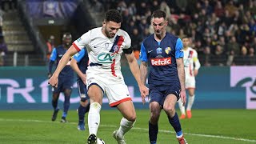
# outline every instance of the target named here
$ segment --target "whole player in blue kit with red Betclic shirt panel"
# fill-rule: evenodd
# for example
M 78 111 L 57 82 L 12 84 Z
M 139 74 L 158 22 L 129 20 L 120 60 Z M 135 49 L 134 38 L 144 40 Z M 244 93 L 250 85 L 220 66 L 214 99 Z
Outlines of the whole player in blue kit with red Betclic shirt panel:
M 178 142 L 186 144 L 186 139 L 182 134 L 182 126 L 175 111 L 175 104 L 179 98 L 182 98 L 183 105 L 186 103 L 182 40 L 166 32 L 167 21 L 164 11 L 154 11 L 151 24 L 154 28 L 154 34 L 144 39 L 140 54 L 142 60 L 141 78 L 144 84 L 146 83 L 147 66 L 150 66 L 148 76 L 150 143 L 157 143 L 158 119 L 163 109 L 170 125 L 174 127 Z M 145 98 L 142 98 L 142 101 L 145 102 Z

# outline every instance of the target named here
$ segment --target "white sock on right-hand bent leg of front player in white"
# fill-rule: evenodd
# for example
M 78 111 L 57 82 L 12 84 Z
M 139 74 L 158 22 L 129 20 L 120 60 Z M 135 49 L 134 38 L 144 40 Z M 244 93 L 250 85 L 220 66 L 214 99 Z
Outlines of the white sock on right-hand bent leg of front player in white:
M 135 122 L 136 121 L 130 122 L 126 118 L 122 118 L 120 122 L 120 127 L 118 129 L 118 136 L 122 138 L 126 134 L 126 132 L 128 132 L 134 126 Z

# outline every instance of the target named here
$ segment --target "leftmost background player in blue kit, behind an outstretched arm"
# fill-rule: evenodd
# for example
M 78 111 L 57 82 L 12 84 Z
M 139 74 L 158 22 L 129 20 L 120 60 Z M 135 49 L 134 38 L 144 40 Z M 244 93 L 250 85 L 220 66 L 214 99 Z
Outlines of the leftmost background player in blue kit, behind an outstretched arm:
M 52 75 L 52 68 L 54 66 L 54 62 L 57 62 L 56 65 L 58 65 L 58 62 L 60 61 L 62 56 L 66 53 L 66 50 L 68 50 L 70 45 L 72 44 L 71 41 L 72 41 L 72 36 L 70 33 L 63 34 L 62 45 L 54 48 L 54 50 L 50 54 L 48 78 L 50 78 Z M 65 96 L 65 100 L 63 103 L 64 110 L 63 110 L 61 122 L 67 122 L 66 115 L 68 110 L 70 109 L 70 95 L 72 92 L 73 79 L 74 79 L 74 71 L 70 66 L 70 62 L 68 62 L 64 67 L 64 69 L 59 74 L 58 86 L 53 87 L 52 106 L 54 107 L 54 114 L 52 115 L 52 118 L 51 118 L 52 121 L 55 121 L 57 118 L 57 114 L 59 110 L 58 98 L 59 98 L 59 94 L 63 92 Z

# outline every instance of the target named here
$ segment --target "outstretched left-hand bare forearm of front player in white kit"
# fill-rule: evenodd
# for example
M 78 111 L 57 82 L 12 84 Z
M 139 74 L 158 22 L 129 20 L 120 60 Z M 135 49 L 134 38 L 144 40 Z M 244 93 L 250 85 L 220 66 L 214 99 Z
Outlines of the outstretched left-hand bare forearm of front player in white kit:
M 58 75 L 62 71 L 62 69 L 66 66 L 66 63 L 69 62 L 70 58 L 76 54 L 78 50 L 72 45 L 66 51 L 66 53 L 62 56 L 62 59 L 58 62 L 58 66 L 54 71 L 54 74 L 49 79 L 49 84 L 51 86 L 57 87 L 58 86 Z

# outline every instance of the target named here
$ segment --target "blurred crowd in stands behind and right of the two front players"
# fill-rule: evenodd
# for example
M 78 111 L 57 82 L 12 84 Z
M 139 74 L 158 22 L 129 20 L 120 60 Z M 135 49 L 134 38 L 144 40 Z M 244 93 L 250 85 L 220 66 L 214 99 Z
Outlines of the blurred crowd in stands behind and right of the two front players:
M 203 66 L 255 65 L 256 0 L 90 0 L 102 10 L 118 9 L 138 58 L 153 28 L 150 15 L 164 10 L 167 32 L 190 37 Z

